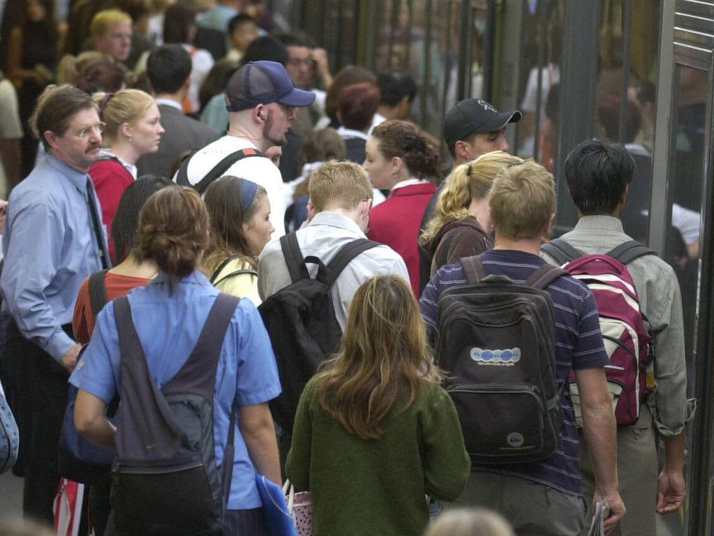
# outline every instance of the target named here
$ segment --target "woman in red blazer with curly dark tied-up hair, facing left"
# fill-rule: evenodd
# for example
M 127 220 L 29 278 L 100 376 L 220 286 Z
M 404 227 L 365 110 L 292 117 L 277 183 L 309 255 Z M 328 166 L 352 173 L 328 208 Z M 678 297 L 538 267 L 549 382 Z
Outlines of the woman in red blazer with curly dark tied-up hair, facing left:
M 439 176 L 438 153 L 411 123 L 385 121 L 367 139 L 364 168 L 372 186 L 389 190 L 384 203 L 369 213 L 367 238 L 390 246 L 406 263 L 414 295 L 419 295 L 417 237 L 421 216 Z

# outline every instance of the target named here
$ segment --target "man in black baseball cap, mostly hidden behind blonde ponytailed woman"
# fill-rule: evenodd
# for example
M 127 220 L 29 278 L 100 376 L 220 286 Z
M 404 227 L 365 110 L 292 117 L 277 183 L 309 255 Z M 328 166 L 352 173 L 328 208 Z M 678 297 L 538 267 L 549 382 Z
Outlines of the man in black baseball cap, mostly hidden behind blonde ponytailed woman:
M 443 134 L 448 151 L 453 158 L 452 170 L 463 163 L 471 162 L 483 153 L 508 151 L 506 126 L 518 123 L 523 114 L 514 110 L 501 112 L 481 98 L 466 98 L 458 101 L 444 116 Z M 421 229 L 431 220 L 436 200 L 448 177 L 436 188 L 431 201 L 426 206 L 421 218 Z M 431 275 L 431 254 L 421 246 L 419 248 L 419 290 L 426 287 Z

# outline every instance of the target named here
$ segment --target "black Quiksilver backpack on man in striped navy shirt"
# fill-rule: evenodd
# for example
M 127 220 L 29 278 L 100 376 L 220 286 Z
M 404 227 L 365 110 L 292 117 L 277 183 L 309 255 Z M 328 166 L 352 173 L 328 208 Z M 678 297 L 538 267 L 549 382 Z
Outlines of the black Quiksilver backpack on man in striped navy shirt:
M 543 290 L 565 274 L 543 265 L 525 283 L 488 275 L 461 259 L 468 283 L 437 304 L 436 363 L 476 465 L 531 462 L 553 454 L 563 423 L 555 375 L 553 300 Z

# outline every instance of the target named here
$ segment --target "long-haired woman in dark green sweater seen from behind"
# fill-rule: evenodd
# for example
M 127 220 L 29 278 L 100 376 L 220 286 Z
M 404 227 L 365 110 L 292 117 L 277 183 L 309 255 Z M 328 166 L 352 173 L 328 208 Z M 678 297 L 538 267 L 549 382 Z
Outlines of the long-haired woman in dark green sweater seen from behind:
M 417 536 L 425 495 L 455 500 L 471 462 L 411 288 L 367 280 L 339 353 L 298 405 L 286 475 L 312 497 L 313 536 Z

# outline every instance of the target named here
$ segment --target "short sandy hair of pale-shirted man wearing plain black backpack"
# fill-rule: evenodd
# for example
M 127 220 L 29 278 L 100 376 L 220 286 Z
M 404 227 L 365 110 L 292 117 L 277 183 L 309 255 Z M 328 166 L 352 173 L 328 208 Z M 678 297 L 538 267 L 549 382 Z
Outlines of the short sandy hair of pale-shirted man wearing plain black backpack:
M 310 174 L 309 190 L 310 203 L 317 212 L 333 206 L 351 211 L 373 196 L 372 185 L 361 166 L 334 160 Z

